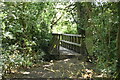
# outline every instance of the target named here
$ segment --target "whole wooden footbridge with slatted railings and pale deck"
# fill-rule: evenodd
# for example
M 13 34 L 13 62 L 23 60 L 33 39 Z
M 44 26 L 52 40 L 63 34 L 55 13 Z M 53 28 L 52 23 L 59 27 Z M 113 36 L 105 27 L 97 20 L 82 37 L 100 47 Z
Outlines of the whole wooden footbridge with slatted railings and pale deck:
M 53 33 L 51 47 L 52 55 L 79 55 L 85 54 L 85 36 L 77 34 L 58 34 Z

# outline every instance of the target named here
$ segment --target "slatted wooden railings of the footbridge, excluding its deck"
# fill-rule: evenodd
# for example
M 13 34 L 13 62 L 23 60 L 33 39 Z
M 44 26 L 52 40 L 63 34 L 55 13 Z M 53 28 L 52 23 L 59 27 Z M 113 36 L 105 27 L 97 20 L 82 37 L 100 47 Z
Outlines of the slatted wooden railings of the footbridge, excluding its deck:
M 78 34 L 60 34 L 60 33 L 52 33 L 53 39 L 57 41 L 57 43 L 53 43 L 52 50 L 56 51 L 55 53 L 59 52 L 59 46 L 74 50 L 78 53 L 83 53 L 84 48 L 84 38 L 85 36 L 81 36 Z M 59 41 L 59 42 L 58 42 Z M 60 44 L 60 45 L 59 45 Z

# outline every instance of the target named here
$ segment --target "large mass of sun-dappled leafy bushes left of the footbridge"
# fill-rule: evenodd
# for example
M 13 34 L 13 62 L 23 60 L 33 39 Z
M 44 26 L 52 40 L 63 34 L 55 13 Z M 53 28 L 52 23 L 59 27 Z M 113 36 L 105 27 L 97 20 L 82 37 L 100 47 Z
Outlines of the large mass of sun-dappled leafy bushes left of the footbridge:
M 43 60 L 51 39 L 52 3 L 2 3 L 2 48 L 5 69 Z

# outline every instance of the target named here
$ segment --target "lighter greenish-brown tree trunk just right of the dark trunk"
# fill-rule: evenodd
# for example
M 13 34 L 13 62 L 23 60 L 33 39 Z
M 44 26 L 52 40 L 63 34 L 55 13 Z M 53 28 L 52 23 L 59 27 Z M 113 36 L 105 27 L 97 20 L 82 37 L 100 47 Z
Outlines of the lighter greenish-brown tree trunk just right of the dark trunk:
M 85 27 L 86 28 L 91 28 L 93 27 L 93 23 L 91 21 L 89 21 L 92 16 L 93 16 L 93 13 L 92 13 L 92 5 L 90 2 L 86 2 L 86 5 L 85 5 L 85 8 L 86 8 L 86 22 L 85 22 Z M 93 55 L 93 30 L 90 30 L 90 29 L 87 29 L 85 31 L 85 43 L 86 43 L 86 49 L 87 49 L 87 52 L 89 53 L 90 56 L 94 56 Z

